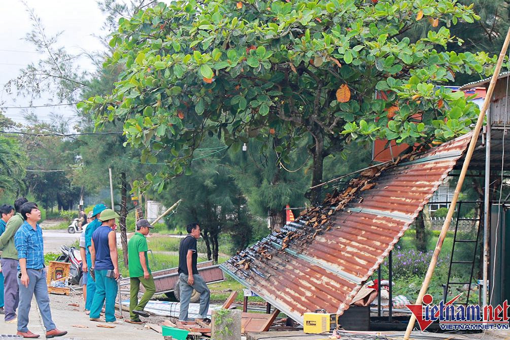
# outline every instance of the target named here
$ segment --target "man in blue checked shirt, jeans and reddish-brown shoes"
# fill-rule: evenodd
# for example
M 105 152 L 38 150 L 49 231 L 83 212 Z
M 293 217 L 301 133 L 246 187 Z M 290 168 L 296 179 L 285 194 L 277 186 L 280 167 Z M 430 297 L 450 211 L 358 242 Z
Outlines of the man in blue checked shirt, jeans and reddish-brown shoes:
M 14 235 L 14 244 L 18 251 L 18 332 L 25 338 L 38 338 L 28 329 L 30 303 L 35 295 L 37 306 L 41 312 L 46 338 L 62 336 L 66 331 L 58 330 L 52 320 L 52 312 L 49 309 L 48 287 L 46 286 L 46 271 L 44 270 L 44 251 L 42 230 L 39 224 L 41 212 L 36 203 L 27 202 L 20 208 L 20 213 L 25 222 L 19 227 Z

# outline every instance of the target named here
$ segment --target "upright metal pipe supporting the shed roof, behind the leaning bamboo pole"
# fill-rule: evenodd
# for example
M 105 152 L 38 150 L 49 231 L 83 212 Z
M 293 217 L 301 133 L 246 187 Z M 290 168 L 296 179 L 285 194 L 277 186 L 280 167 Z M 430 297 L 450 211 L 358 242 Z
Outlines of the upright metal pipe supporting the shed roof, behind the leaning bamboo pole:
M 491 99 L 491 98 L 489 98 Z M 492 104 L 490 106 L 492 108 Z M 490 217 L 490 180 L 491 180 L 491 110 L 487 110 L 485 147 L 485 183 L 483 190 L 483 287 L 482 306 L 487 305 L 488 264 L 489 264 L 489 217 Z M 480 291 L 478 291 L 479 294 Z

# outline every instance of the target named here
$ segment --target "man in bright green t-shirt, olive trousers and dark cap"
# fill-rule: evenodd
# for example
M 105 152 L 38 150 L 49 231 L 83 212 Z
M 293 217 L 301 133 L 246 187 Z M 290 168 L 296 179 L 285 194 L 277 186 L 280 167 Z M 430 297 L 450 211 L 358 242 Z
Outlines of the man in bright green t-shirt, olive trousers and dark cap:
M 149 315 L 143 308 L 154 293 L 156 285 L 150 272 L 149 260 L 147 257 L 147 239 L 149 230 L 154 228 L 146 219 L 136 222 L 136 232 L 127 243 L 127 256 L 129 260 L 129 275 L 131 278 L 131 298 L 129 304 L 130 323 L 141 324 L 140 316 L 147 318 Z M 138 292 L 140 291 L 140 282 L 145 288 L 145 293 L 140 302 L 138 302 Z

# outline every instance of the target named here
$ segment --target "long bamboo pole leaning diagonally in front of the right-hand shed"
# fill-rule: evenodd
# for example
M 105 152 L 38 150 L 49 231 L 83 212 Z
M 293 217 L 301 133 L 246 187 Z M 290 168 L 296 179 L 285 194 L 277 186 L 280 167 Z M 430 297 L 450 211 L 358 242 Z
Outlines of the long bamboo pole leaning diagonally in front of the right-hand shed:
M 478 120 L 476 121 L 476 126 L 474 128 L 473 135 L 471 136 L 471 141 L 469 142 L 468 152 L 466 154 L 466 159 L 464 160 L 464 164 L 462 165 L 461 175 L 458 177 L 457 186 L 455 187 L 455 192 L 453 194 L 453 198 L 451 200 L 450 208 L 448 209 L 448 214 L 446 215 L 445 222 L 443 224 L 443 228 L 441 229 L 441 233 L 439 234 L 438 243 L 436 244 L 436 249 L 434 249 L 434 253 L 432 255 L 432 259 L 430 260 L 430 264 L 427 269 L 427 274 L 425 275 L 425 279 L 423 280 L 423 284 L 420 289 L 420 293 L 418 294 L 418 298 L 416 299 L 415 304 L 419 305 L 422 303 L 423 296 L 427 292 L 428 285 L 430 284 L 430 279 L 432 278 L 432 274 L 434 273 L 434 269 L 436 269 L 436 264 L 438 261 L 439 253 L 441 252 L 441 247 L 443 246 L 443 242 L 446 238 L 446 233 L 448 231 L 448 227 L 450 226 L 450 221 L 453 216 L 453 212 L 455 210 L 455 205 L 457 204 L 458 195 L 461 193 L 461 188 L 464 183 L 464 178 L 466 177 L 466 172 L 468 171 L 469 162 L 471 162 L 471 157 L 473 155 L 474 148 L 476 146 L 476 142 L 478 141 L 478 135 L 480 134 L 480 129 L 483 123 L 483 118 L 485 117 L 485 113 L 489 107 L 489 103 L 491 102 L 492 92 L 494 91 L 494 87 L 496 86 L 496 82 L 498 80 L 499 71 L 501 70 L 501 64 L 503 63 L 503 59 L 506 55 L 506 49 L 508 48 L 508 43 L 510 42 L 510 28 L 508 28 L 508 32 L 506 33 L 506 38 L 503 43 L 503 47 L 501 48 L 501 52 L 499 53 L 498 62 L 496 64 L 496 68 L 494 70 L 494 74 L 492 75 L 491 83 L 489 84 L 489 89 L 487 90 L 487 95 L 485 100 L 483 101 L 483 106 L 480 110 L 480 115 L 478 116 Z M 407 324 L 407 329 L 405 330 L 404 340 L 409 340 L 409 336 L 413 331 L 413 327 L 416 321 L 416 317 L 414 314 L 411 316 L 409 320 L 409 324 Z

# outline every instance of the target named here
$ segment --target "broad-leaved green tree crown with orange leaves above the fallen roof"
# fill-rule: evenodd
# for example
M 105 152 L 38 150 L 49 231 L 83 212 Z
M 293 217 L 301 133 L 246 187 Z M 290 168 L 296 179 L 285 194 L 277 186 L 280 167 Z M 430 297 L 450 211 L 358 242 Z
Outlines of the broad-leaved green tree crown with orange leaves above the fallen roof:
M 440 28 L 403 37 L 429 18 Z M 469 130 L 476 106 L 437 86 L 490 71 L 487 54 L 446 50 L 462 44 L 447 25 L 476 19 L 454 0 L 160 3 L 120 18 L 107 64 L 125 70 L 110 95 L 81 106 L 98 123 L 124 121 L 143 161 L 171 153 L 168 178 L 186 171 L 206 134 L 237 149 L 273 135 L 284 163 L 310 137 L 316 185 L 325 156 L 351 137 L 428 143 Z

